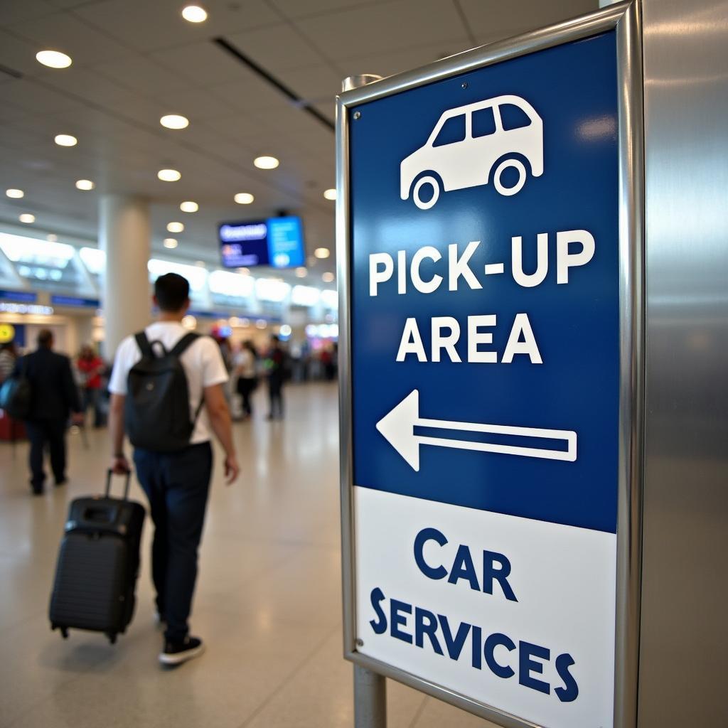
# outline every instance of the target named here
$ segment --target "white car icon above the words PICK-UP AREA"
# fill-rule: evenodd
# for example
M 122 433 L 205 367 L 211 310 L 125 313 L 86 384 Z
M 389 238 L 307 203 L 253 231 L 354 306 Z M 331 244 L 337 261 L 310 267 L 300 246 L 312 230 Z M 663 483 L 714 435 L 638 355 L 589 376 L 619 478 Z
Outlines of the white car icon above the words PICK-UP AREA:
M 400 197 L 429 210 L 440 192 L 493 183 L 510 197 L 544 171 L 543 121 L 520 96 L 448 109 L 430 138 L 400 164 Z

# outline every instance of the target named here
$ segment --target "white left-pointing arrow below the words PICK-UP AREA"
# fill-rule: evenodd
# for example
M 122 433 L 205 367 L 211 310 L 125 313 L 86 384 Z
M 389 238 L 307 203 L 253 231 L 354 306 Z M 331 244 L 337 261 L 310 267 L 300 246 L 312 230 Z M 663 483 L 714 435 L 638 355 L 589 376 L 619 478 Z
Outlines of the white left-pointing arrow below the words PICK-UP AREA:
M 415 427 L 437 427 L 438 430 L 465 430 L 467 432 L 488 432 L 493 435 L 519 435 L 526 438 L 564 440 L 566 450 L 428 438 L 424 435 L 415 435 Z M 376 423 L 376 429 L 403 456 L 412 469 L 418 472 L 420 445 L 505 453 L 523 457 L 541 457 L 547 460 L 568 460 L 573 462 L 577 459 L 577 433 L 573 430 L 541 430 L 538 427 L 509 427 L 502 424 L 473 424 L 472 422 L 448 422 L 448 420 L 444 419 L 423 419 L 419 416 L 419 391 L 417 389 L 413 389 L 389 414 L 382 417 Z

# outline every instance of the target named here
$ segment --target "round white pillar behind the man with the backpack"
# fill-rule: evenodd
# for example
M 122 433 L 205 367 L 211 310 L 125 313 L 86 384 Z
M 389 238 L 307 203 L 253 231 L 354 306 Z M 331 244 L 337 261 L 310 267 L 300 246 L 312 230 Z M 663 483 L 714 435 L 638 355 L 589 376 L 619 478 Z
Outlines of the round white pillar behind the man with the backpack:
M 147 261 L 151 249 L 146 199 L 105 194 L 99 202 L 99 247 L 106 252 L 102 306 L 104 354 L 114 356 L 119 342 L 140 331 L 151 318 Z

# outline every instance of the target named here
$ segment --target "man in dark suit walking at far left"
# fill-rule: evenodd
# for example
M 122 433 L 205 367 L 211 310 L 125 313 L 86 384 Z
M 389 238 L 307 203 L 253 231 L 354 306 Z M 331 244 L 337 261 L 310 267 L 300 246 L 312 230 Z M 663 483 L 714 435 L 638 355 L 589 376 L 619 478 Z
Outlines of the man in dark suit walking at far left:
M 23 373 L 31 384 L 31 414 L 25 421 L 25 430 L 31 441 L 31 488 L 36 496 L 43 493 L 43 451 L 46 443 L 55 484 L 62 486 L 66 483 L 68 416 L 73 412 L 74 422 L 81 422 L 83 417 L 79 391 L 71 373 L 71 361 L 53 352 L 52 346 L 52 332 L 42 329 L 38 334 L 38 349 L 21 357 L 15 365 L 15 373 Z

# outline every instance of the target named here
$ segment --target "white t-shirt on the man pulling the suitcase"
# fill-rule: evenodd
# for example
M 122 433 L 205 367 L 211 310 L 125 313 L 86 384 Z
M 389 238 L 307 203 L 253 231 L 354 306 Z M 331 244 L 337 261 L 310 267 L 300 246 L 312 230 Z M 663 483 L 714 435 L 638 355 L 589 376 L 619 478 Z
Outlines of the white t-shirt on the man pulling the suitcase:
M 146 338 L 149 343 L 161 341 L 165 349 L 170 351 L 174 345 L 186 334 L 187 329 L 175 321 L 157 321 L 146 328 Z M 159 349 L 159 347 L 157 347 Z M 133 336 L 127 336 L 116 350 L 114 371 L 108 382 L 108 389 L 114 395 L 126 395 L 127 377 L 129 370 L 141 359 L 141 351 Z M 189 411 L 194 417 L 197 407 L 202 401 L 202 390 L 213 387 L 215 384 L 224 384 L 228 381 L 227 371 L 220 353 L 220 347 L 209 336 L 200 336 L 185 349 L 180 362 L 187 375 L 189 389 Z M 203 407 L 197 418 L 197 423 L 190 438 L 191 445 L 206 443 L 210 440 L 210 418 Z

